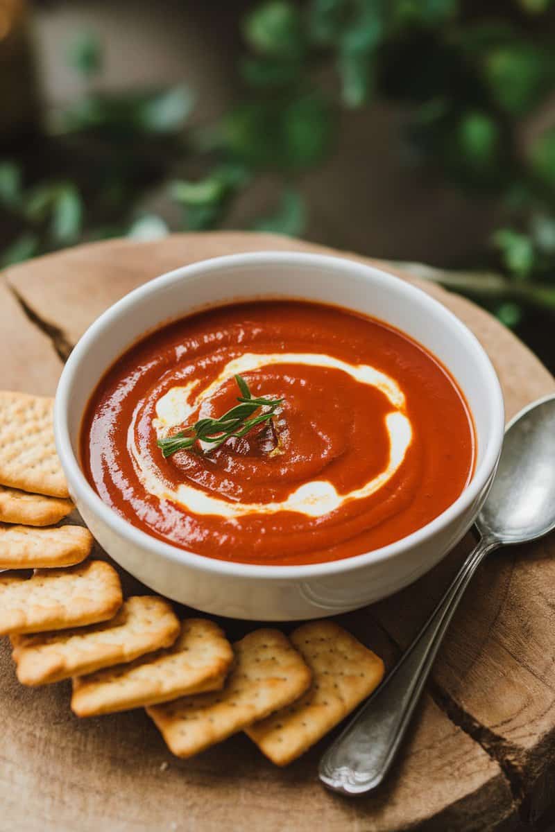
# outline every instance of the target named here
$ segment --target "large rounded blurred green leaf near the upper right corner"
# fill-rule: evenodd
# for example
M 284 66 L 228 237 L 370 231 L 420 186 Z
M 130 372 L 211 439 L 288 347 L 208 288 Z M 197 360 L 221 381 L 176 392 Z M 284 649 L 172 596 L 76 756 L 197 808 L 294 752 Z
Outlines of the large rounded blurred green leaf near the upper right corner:
M 553 57 L 535 43 L 507 44 L 488 52 L 484 76 L 495 102 L 520 116 L 553 85 Z

